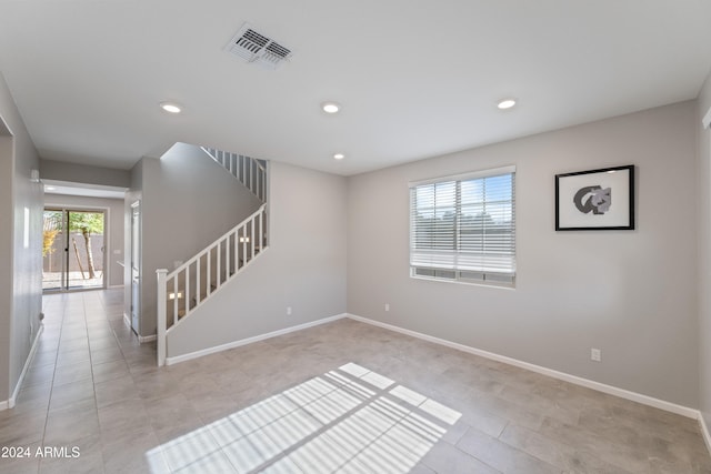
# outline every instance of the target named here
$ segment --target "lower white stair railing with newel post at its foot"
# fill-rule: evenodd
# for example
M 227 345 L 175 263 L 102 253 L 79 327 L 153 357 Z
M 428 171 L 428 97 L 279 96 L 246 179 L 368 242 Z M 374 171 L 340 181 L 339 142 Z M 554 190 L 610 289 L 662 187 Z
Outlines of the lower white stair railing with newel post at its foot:
M 158 275 L 158 365 L 166 364 L 166 336 L 182 319 L 220 290 L 267 246 L 267 204 L 196 256 Z

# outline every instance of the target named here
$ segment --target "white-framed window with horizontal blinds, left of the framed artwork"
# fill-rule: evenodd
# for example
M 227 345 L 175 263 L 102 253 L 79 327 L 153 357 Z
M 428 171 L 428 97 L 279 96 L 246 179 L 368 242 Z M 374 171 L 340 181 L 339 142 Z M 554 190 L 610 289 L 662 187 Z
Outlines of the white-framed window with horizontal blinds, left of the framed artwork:
M 410 274 L 513 285 L 515 168 L 410 184 Z

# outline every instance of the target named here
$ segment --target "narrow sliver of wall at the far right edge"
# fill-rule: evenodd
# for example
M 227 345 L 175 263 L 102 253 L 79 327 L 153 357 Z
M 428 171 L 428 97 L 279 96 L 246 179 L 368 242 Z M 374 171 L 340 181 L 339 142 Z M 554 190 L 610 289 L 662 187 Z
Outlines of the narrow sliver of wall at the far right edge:
M 699 134 L 699 401 L 711 426 L 711 130 L 701 119 L 711 109 L 711 74 L 699 95 L 695 130 Z

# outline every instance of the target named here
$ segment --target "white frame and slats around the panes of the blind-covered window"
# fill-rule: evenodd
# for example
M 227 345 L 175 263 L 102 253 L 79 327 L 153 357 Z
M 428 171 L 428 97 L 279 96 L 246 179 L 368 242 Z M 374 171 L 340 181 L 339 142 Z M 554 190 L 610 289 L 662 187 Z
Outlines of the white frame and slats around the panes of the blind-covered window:
M 484 284 L 484 285 L 493 285 L 493 286 L 503 286 L 503 288 L 515 288 L 515 275 L 517 275 L 517 232 L 515 232 L 515 185 L 517 185 L 517 180 L 515 180 L 515 165 L 508 165 L 508 167 L 500 167 L 500 168 L 495 168 L 495 169 L 487 169 L 487 170 L 480 170 L 480 171 L 473 171 L 473 172 L 468 172 L 468 173 L 461 173 L 461 174 L 454 174 L 454 175 L 448 175 L 448 177 L 440 177 L 440 178 L 433 178 L 433 179 L 428 179 L 428 180 L 421 180 L 421 181 L 413 181 L 410 182 L 408 185 L 408 192 L 409 192 L 409 269 L 410 269 L 410 278 L 413 279 L 423 279 L 423 280 L 435 280 L 435 281 L 445 281 L 445 282 L 457 282 L 457 283 L 465 283 L 465 284 Z M 503 249 L 505 251 L 505 253 L 502 252 L 497 252 L 497 251 L 484 251 L 482 253 L 477 253 L 477 252 L 472 252 L 472 251 L 464 251 L 462 249 L 463 245 L 467 244 L 467 239 L 471 240 L 471 234 L 469 236 L 467 236 L 465 234 L 463 234 L 462 230 L 465 229 L 464 224 L 462 224 L 462 218 L 465 215 L 462 208 L 470 208 L 472 206 L 472 203 L 465 203 L 463 202 L 462 199 L 462 182 L 473 182 L 473 181 L 480 181 L 480 185 L 485 185 L 485 179 L 491 179 L 491 178 L 497 178 L 497 177 L 503 177 L 503 175 L 511 175 L 511 193 L 508 194 L 509 199 L 508 200 L 487 200 L 487 192 L 483 191 L 482 195 L 483 199 L 480 202 L 477 202 L 473 205 L 482 205 L 483 209 L 487 209 L 488 204 L 502 204 L 505 205 L 510 205 L 510 221 L 508 225 L 504 225 L 501 228 L 503 229 L 503 233 L 505 233 L 507 231 L 510 232 L 510 243 L 504 244 Z M 438 234 L 439 231 L 435 230 L 437 223 L 432 223 L 430 224 L 429 228 L 421 228 L 419 230 L 420 235 L 422 232 L 431 232 L 432 236 L 431 239 L 431 245 L 432 248 L 427 249 L 427 248 L 418 248 L 418 223 L 415 221 L 417 219 L 417 203 L 415 203 L 415 194 L 417 194 L 417 189 L 418 188 L 422 188 L 424 189 L 425 186 L 430 186 L 430 185 L 437 185 L 437 184 L 448 184 L 450 182 L 454 183 L 454 204 L 453 204 L 453 209 L 454 209 L 454 213 L 453 213 L 453 222 L 452 222 L 452 249 L 440 249 L 442 250 L 442 255 L 443 258 L 447 259 L 452 259 L 452 262 L 448 262 L 448 263 L 431 263 L 430 265 L 428 264 L 421 264 L 418 263 L 417 260 L 421 259 L 423 255 L 427 255 L 428 253 L 430 255 L 432 255 L 432 260 L 437 259 L 433 255 L 438 254 L 438 242 L 435 241 L 437 239 L 441 239 L 442 235 L 444 238 L 447 238 L 445 240 L 443 240 L 443 242 L 447 242 L 447 240 L 449 239 L 448 235 L 448 229 L 447 226 L 444 228 L 445 231 L 442 234 Z M 469 184 L 470 186 L 475 186 L 475 183 Z M 425 208 L 429 209 L 431 211 L 431 215 L 437 215 L 438 211 L 441 212 L 445 206 L 438 206 L 437 205 L 437 188 L 433 188 L 433 202 L 434 204 L 431 208 Z M 447 198 L 447 194 L 444 196 L 444 199 Z M 484 215 L 487 214 L 487 212 L 482 212 Z M 507 212 L 504 211 L 503 215 L 507 215 Z M 471 216 L 470 216 L 471 218 Z M 485 229 L 485 224 L 482 224 L 483 229 Z M 478 226 L 473 226 L 473 228 L 469 228 L 470 230 L 472 229 L 479 229 Z M 420 238 L 421 239 L 421 238 Z M 501 242 L 508 242 L 509 240 L 507 240 L 505 238 L 501 239 L 499 238 L 499 240 Z M 484 235 L 482 235 L 481 242 L 483 246 L 487 246 L 487 242 L 493 242 L 494 243 L 494 249 L 497 249 L 497 238 L 492 238 L 492 239 L 485 239 Z M 499 244 L 501 244 L 501 242 L 498 242 Z M 447 244 L 445 244 L 447 246 Z M 421 252 L 418 254 L 418 250 L 420 250 Z M 428 250 L 430 252 L 428 252 Z M 468 256 L 469 255 L 469 256 Z M 471 256 L 471 255 L 478 255 L 475 258 Z M 501 271 L 498 271 L 495 269 L 497 264 L 494 264 L 491 268 L 485 268 L 488 264 L 487 263 L 480 263 L 480 265 L 482 268 L 477 269 L 477 270 L 472 270 L 471 266 L 468 266 L 467 264 L 460 264 L 460 260 L 461 261 L 467 261 L 467 259 L 473 259 L 475 260 L 480 260 L 481 262 L 485 262 L 488 260 L 495 260 L 497 255 L 502 258 L 502 261 L 510 261 L 507 264 L 503 264 L 503 268 L 501 269 Z

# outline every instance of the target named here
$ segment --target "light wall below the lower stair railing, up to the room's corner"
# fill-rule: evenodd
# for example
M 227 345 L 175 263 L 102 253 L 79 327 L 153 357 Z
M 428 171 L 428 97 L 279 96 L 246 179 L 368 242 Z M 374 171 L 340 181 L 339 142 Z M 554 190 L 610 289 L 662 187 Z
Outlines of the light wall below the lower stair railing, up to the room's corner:
M 168 356 L 344 313 L 346 221 L 344 178 L 270 163 L 269 249 L 171 330 Z

